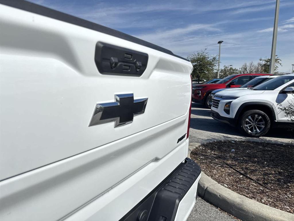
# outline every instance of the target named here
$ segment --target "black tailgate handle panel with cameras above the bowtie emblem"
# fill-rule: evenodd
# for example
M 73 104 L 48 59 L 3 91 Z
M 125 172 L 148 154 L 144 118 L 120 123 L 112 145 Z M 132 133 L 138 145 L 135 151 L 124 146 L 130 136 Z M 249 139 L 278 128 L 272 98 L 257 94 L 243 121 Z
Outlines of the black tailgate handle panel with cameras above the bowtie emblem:
M 97 42 L 95 63 L 103 75 L 141 76 L 147 67 L 148 54 Z

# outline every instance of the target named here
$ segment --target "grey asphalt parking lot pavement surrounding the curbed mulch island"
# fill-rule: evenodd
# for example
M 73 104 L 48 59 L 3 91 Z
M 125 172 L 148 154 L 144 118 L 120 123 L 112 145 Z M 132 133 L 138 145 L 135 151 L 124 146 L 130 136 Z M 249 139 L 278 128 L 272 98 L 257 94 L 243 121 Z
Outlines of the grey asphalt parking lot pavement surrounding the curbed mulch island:
M 204 105 L 192 103 L 191 123 L 189 132 L 189 146 L 198 145 L 206 141 L 222 138 L 244 138 L 237 128 L 218 122 L 210 116 L 210 109 Z M 290 133 L 285 130 L 272 129 L 264 137 L 269 141 L 291 142 Z M 236 220 L 226 212 L 216 208 L 200 197 L 197 198 L 188 221 L 227 221 Z

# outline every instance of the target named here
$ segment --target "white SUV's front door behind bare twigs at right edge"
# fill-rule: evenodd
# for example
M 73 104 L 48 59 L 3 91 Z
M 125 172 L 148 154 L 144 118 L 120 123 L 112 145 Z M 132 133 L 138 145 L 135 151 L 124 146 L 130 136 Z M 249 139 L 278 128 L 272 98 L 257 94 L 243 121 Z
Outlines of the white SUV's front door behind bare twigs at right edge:
M 294 87 L 294 83 L 287 85 L 286 87 Z M 280 91 L 278 94 L 278 121 L 290 121 L 291 116 L 286 115 L 282 108 L 287 108 L 289 105 L 294 106 L 294 94 L 293 93 L 286 93 L 284 89 Z M 293 117 L 293 116 L 292 116 Z

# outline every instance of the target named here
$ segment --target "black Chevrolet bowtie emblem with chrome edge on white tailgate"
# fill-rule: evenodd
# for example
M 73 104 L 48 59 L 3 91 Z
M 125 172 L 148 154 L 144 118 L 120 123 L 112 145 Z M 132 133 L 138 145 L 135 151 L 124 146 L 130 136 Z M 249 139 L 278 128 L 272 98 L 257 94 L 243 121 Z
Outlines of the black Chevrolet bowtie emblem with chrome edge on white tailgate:
M 132 123 L 136 115 L 145 112 L 148 98 L 135 99 L 133 94 L 114 95 L 115 102 L 98 103 L 90 126 L 114 121 L 114 127 Z

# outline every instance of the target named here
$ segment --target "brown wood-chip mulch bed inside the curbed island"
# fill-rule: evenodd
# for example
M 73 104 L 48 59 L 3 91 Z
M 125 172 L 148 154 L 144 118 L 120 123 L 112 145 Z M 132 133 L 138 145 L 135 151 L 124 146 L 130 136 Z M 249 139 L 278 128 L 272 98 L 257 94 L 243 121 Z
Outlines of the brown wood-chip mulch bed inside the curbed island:
M 224 187 L 268 206 L 294 213 L 293 145 L 213 142 L 196 147 L 191 158 L 206 175 Z

